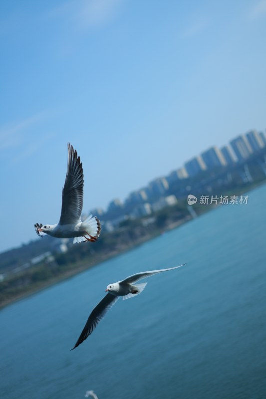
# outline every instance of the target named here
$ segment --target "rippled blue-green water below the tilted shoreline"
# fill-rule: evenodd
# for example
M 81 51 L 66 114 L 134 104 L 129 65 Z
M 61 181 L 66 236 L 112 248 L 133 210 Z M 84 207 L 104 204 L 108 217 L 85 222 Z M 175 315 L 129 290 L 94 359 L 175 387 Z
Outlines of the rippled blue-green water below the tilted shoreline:
M 4 308 L 0 397 L 266 398 L 266 186 L 248 194 Z M 107 284 L 184 262 L 69 351 Z

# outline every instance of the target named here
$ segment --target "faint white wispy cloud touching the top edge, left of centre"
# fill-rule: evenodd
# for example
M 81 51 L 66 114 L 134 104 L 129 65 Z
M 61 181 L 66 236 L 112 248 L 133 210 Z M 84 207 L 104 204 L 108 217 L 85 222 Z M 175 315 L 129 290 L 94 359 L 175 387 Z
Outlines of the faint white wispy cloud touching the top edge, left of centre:
M 104 26 L 119 14 L 125 0 L 70 0 L 53 9 L 52 15 L 71 20 L 78 28 Z

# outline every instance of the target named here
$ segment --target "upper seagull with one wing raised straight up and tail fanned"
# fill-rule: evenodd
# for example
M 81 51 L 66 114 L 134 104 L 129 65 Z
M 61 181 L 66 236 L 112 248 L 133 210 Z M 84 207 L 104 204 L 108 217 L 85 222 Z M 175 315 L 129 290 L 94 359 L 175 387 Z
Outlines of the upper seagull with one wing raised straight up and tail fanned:
M 65 184 L 62 192 L 62 209 L 59 223 L 34 224 L 36 233 L 44 232 L 57 238 L 74 237 L 73 243 L 82 241 L 95 242 L 101 233 L 101 224 L 97 216 L 89 215 L 81 221 L 83 207 L 83 169 L 76 150 L 67 144 L 68 161 Z

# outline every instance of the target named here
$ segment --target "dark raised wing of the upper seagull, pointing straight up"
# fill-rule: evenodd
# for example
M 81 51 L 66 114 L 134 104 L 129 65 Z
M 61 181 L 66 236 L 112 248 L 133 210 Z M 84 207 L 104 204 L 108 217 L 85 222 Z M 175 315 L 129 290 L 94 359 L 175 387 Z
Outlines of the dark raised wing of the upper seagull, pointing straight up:
M 83 207 L 83 169 L 76 150 L 67 144 L 68 161 L 59 224 L 78 223 Z

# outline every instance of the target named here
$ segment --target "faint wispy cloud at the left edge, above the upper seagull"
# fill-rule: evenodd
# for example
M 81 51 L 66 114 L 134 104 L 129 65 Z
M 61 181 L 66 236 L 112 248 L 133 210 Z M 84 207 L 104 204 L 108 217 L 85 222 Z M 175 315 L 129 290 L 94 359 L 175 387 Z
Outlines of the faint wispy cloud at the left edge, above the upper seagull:
M 12 122 L 0 126 L 0 151 L 19 146 L 26 129 L 43 119 L 45 112 L 39 112 L 19 122 Z

